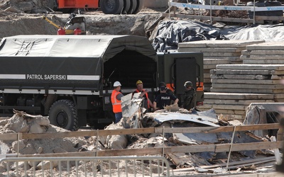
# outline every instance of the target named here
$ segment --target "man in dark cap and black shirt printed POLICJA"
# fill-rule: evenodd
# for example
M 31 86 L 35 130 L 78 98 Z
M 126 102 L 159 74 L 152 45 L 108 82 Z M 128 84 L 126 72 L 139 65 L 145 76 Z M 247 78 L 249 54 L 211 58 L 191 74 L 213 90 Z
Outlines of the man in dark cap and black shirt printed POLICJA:
M 174 104 L 178 103 L 178 98 L 173 94 L 166 93 L 167 89 L 165 86 L 160 86 L 160 94 L 155 97 L 153 102 L 154 110 L 163 109 L 166 105 L 170 105 L 171 101 L 174 101 Z

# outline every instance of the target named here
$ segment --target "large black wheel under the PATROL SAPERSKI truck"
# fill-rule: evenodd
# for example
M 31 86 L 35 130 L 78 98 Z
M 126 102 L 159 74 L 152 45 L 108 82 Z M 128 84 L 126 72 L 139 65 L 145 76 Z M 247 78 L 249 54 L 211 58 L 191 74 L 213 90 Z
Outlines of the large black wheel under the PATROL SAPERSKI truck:
M 51 105 L 48 115 L 52 125 L 71 131 L 78 130 L 77 111 L 73 101 L 56 101 Z

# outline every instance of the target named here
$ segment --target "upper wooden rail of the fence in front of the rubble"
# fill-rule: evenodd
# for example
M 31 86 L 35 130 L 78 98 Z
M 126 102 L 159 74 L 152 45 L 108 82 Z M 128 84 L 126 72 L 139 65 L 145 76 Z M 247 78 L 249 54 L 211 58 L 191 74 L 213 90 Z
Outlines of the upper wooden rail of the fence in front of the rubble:
M 278 123 L 259 124 L 259 125 L 240 125 L 236 126 L 236 131 L 248 130 L 273 130 L 279 129 Z M 130 134 L 147 134 L 147 133 L 213 133 L 213 132 L 233 132 L 234 126 L 224 127 L 180 127 L 180 128 L 137 128 L 137 129 L 121 129 L 121 130 L 99 130 L 99 136 L 106 135 L 130 135 Z M 97 136 L 97 130 L 78 131 L 78 132 L 48 132 L 48 133 L 23 133 L 19 139 L 49 139 L 49 138 L 64 138 L 64 137 L 90 137 Z M 17 140 L 18 134 L 11 133 L 0 135 L 0 140 Z

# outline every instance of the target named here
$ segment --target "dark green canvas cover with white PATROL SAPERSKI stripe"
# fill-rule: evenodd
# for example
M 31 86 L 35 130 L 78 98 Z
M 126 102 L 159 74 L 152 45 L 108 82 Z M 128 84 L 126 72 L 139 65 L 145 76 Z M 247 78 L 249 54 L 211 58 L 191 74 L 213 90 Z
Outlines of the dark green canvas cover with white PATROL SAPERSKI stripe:
M 0 89 L 98 90 L 103 63 L 121 51 L 154 61 L 145 37 L 133 35 L 16 35 L 0 43 Z

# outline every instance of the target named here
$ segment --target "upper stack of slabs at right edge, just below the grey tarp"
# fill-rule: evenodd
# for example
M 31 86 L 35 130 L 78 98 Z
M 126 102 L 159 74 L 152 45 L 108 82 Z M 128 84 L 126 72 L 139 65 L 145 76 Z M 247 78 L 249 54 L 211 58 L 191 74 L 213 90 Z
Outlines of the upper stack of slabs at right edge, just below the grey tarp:
M 241 51 L 244 64 L 284 64 L 284 42 L 248 45 Z

